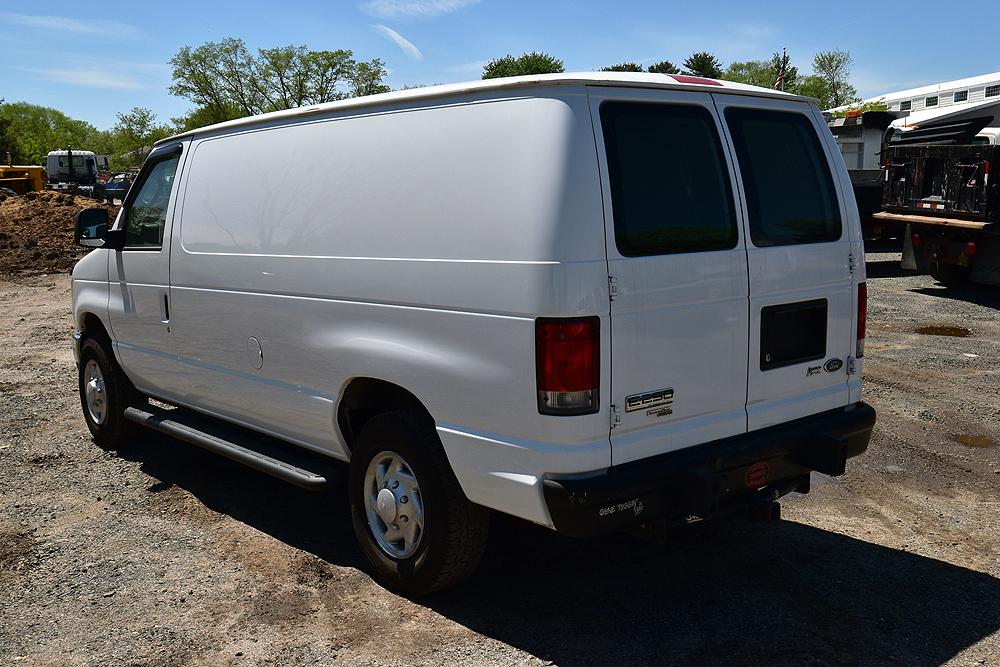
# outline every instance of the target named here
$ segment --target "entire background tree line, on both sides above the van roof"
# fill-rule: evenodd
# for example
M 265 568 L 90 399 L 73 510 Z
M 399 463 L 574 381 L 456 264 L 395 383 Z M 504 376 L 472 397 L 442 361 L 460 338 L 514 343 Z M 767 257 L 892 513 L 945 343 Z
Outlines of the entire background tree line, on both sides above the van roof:
M 669 60 L 643 67 L 625 61 L 607 71 L 691 74 L 726 79 L 815 97 L 821 108 L 858 100 L 850 84 L 851 56 L 846 51 L 822 51 L 812 61 L 812 73 L 801 75 L 786 53 L 769 60 L 723 64 L 711 53 L 693 53 L 675 65 Z M 255 51 L 241 39 L 227 38 L 197 47 L 185 46 L 170 59 L 173 95 L 189 100 L 188 113 L 161 122 L 150 109 L 135 107 L 119 113 L 113 127 L 98 130 L 49 107 L 0 100 L 0 159 L 41 164 L 51 150 L 92 150 L 111 158 L 114 170 L 135 168 L 156 141 L 177 132 L 269 111 L 373 95 L 390 89 L 388 72 L 378 58 L 356 60 L 350 50 L 311 50 L 289 45 Z M 533 51 L 488 62 L 483 78 L 564 71 L 563 62 Z

